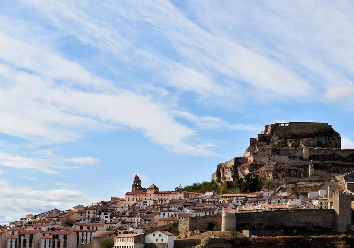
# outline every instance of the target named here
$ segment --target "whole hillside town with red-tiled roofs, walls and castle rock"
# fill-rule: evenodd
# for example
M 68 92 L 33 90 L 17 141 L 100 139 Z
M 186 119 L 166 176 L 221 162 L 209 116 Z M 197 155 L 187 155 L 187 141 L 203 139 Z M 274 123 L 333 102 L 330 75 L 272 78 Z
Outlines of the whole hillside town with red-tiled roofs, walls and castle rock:
M 314 147 L 315 146 L 315 147 Z M 354 231 L 354 150 L 327 123 L 275 123 L 251 139 L 244 157 L 219 164 L 219 185 L 247 174 L 275 181 L 256 192 L 160 191 L 143 188 L 137 175 L 124 198 L 90 206 L 28 214 L 0 226 L 0 248 L 100 247 L 105 239 L 121 247 L 223 247 L 225 237 Z M 306 194 L 290 183 L 326 181 Z M 209 236 L 200 237 L 210 232 Z M 199 237 L 190 239 L 190 237 Z

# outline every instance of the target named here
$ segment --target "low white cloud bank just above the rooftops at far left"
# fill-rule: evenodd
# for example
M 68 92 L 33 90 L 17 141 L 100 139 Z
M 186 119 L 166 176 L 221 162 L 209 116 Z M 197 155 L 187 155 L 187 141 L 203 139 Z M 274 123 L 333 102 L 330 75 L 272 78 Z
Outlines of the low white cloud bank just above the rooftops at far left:
M 77 204 L 97 202 L 98 198 L 67 188 L 34 190 L 31 187 L 12 187 L 7 181 L 0 180 L 0 201 L 0 224 L 7 224 L 26 214 L 38 214 L 54 208 L 69 209 Z

